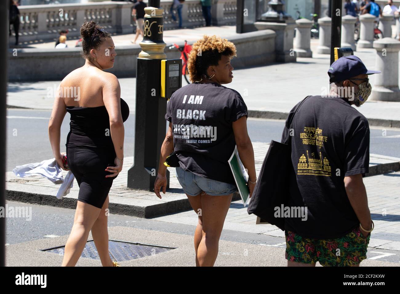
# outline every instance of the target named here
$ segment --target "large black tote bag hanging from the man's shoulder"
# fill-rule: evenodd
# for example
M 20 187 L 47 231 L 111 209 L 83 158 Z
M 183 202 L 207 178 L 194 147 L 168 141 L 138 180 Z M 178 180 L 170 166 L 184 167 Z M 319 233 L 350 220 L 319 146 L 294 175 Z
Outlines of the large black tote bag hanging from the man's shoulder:
M 298 105 L 294 115 L 308 97 L 310 96 L 304 98 Z M 292 125 L 294 115 L 288 123 L 289 127 Z M 289 136 L 286 138 L 286 143 L 288 140 Z M 284 144 L 272 140 L 247 208 L 248 214 L 255 214 L 261 218 L 261 222 L 269 222 L 284 231 L 285 219 L 276 218 L 274 214 L 276 207 L 281 208 L 282 204 L 285 205 L 289 195 L 289 178 L 293 173 L 291 143 Z

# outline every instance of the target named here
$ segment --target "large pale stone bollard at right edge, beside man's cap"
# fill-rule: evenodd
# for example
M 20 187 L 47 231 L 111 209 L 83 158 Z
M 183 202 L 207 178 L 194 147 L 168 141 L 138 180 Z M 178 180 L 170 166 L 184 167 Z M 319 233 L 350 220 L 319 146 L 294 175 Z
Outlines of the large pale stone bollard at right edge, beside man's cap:
M 375 83 L 372 87 L 370 100 L 400 102 L 399 89 L 399 50 L 400 42 L 393 38 L 383 38 L 374 41 L 376 49 Z

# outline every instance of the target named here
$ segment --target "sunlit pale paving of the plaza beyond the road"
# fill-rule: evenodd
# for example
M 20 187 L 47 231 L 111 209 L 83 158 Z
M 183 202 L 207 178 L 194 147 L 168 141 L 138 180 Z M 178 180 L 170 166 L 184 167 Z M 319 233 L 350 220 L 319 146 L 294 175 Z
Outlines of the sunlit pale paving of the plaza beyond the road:
M 213 27 L 211 33 L 229 38 L 236 34 L 234 28 L 234 26 Z M 164 32 L 164 40 L 167 44 L 177 40 L 197 40 L 204 33 L 210 34 L 210 30 L 208 28 L 170 30 Z M 131 37 L 132 35 L 120 35 L 113 38 L 118 46 L 130 43 Z M 45 44 L 34 46 L 45 46 Z M 232 83 L 225 86 L 234 88 L 243 96 L 248 109 L 251 110 L 250 116 L 285 119 L 292 107 L 305 96 L 326 94 L 328 91 L 327 71 L 330 56 L 317 54 L 317 46 L 318 40 L 312 39 L 313 58 L 297 58 L 297 62 L 294 63 L 234 69 Z M 354 54 L 361 58 L 367 68 L 375 69 L 375 49 L 363 49 Z M 118 66 L 118 56 L 116 57 L 116 66 Z M 375 76 L 370 76 L 372 87 Z M 121 78 L 119 81 L 121 97 L 134 112 L 136 78 Z M 60 81 L 8 83 L 7 105 L 51 109 L 53 98 L 51 95 L 48 97 L 48 87 L 56 88 L 59 83 Z M 183 80 L 182 85 L 185 84 L 186 82 Z M 400 127 L 400 102 L 367 101 L 357 110 L 370 120 L 371 125 Z

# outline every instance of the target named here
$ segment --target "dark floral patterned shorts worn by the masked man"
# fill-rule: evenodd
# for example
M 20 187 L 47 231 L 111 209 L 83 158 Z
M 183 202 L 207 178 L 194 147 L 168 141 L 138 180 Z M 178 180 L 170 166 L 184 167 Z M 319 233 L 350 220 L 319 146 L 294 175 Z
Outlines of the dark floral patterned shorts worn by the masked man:
M 294 262 L 322 266 L 352 266 L 366 259 L 371 234 L 364 238 L 358 226 L 347 235 L 337 239 L 308 239 L 285 231 L 286 259 Z

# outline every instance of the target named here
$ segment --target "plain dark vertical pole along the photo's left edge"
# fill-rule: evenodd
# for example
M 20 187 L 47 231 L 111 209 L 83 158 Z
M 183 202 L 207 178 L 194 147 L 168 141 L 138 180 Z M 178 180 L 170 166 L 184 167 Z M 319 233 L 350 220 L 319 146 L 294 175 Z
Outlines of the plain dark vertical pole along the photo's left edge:
M 2 1 L 0 4 L 0 20 L 3 22 L 0 25 L 0 40 L 3 46 L 0 46 L 2 57 L 2 76 L 0 82 L 0 91 L 2 99 L 0 102 L 0 207 L 6 207 L 6 97 L 7 97 L 7 49 L 8 49 L 8 6 L 9 1 Z M 5 211 L 5 213 L 7 213 Z M 0 266 L 6 265 L 6 218 L 0 217 Z

